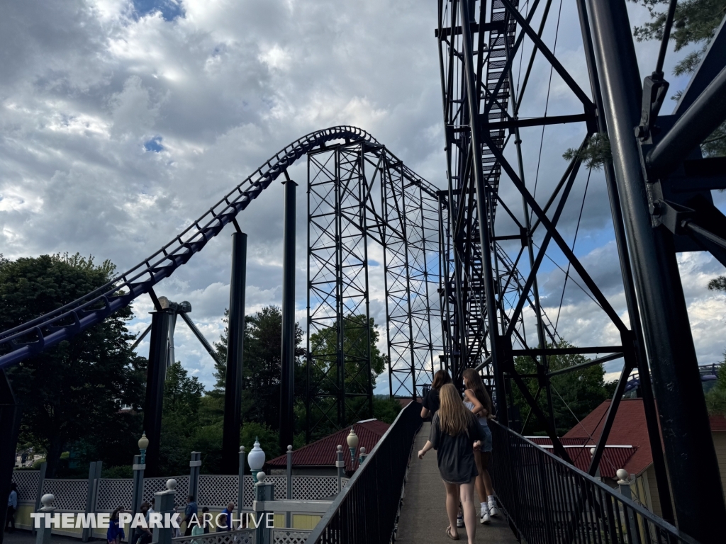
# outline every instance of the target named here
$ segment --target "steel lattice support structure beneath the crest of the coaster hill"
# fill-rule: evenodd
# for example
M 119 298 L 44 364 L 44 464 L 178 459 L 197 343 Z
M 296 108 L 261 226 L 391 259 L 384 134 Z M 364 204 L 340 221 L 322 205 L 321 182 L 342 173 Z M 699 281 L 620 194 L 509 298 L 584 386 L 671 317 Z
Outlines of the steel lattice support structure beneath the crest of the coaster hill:
M 317 437 L 372 413 L 371 242 L 383 257 L 391 395 L 415 398 L 431 382 L 442 353 L 439 197 L 380 144 L 326 147 L 308 168 L 306 409 Z

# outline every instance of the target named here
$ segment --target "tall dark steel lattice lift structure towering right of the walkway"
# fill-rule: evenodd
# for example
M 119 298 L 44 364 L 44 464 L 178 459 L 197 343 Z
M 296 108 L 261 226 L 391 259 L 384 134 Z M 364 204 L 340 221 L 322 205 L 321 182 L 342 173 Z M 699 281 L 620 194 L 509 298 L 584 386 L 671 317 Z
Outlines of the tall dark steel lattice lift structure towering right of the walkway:
M 446 358 L 454 377 L 467 367 L 483 371 L 494 388 L 500 421 L 522 429 L 531 415 L 537 416 L 555 451 L 565 459 L 567 453 L 555 434 L 551 377 L 622 358 L 624 368 L 613 402 L 602 433 L 595 437 L 590 474 L 599 465 L 627 376 L 637 368 L 648 381 L 643 404 L 658 491 L 669 497 L 667 459 L 681 529 L 711 541 L 716 535 L 714 521 L 724 514 L 723 498 L 674 252 L 709 250 L 726 263 L 726 218 L 709 194 L 709 189 L 726 186 L 726 165 L 723 159 L 703 159 L 698 151 L 698 144 L 726 118 L 726 33 L 722 23 L 674 115 L 659 118 L 667 88 L 662 65 L 669 28 L 656 71 L 641 86 L 629 25 L 623 22 L 627 21 L 624 0 L 576 0 L 575 4 L 590 89 L 579 86 L 542 39 L 551 0 L 522 7 L 517 0 L 439 1 L 436 37 L 451 210 L 448 221 L 442 218 L 446 225 L 441 234 L 448 238 L 443 242 L 442 261 Z M 672 2 L 671 9 L 674 6 Z M 518 54 L 525 60 L 529 57 L 523 78 L 513 73 Z M 544 115 L 534 117 L 530 107 L 527 118 L 520 118 L 523 104 L 526 107 L 534 94 L 527 84 L 536 57 L 543 57 L 551 73 L 569 89 L 571 102 L 579 104 L 575 110 L 548 116 L 545 107 Z M 579 123 L 582 145 L 554 190 L 537 194 L 530 181 L 536 175 L 525 167 L 528 151 L 522 133 L 542 127 L 544 138 L 546 125 L 562 123 Z M 600 133 L 600 139 L 609 136 L 612 142 L 613 160 L 605 158 L 604 177 L 630 325 L 620 318 L 575 255 L 574 242 L 566 242 L 558 226 L 568 200 L 582 191 L 586 174 L 581 168 L 582 151 L 590 147 L 595 133 Z M 513 199 L 512 194 L 517 196 Z M 558 346 L 559 310 L 552 323 L 537 284 L 537 274 L 544 259 L 551 260 L 552 251 L 560 262 L 564 259 L 566 278 L 572 274 L 603 310 L 618 332 L 619 345 Z M 595 357 L 553 371 L 551 358 L 568 353 Z M 537 372 L 518 374 L 513 364 L 516 356 L 534 360 Z M 528 379 L 537 380 L 535 395 L 526 387 Z M 523 421 L 512 413 L 512 387 L 521 391 L 530 406 Z M 549 413 L 538 408 L 542 395 Z M 656 399 L 661 406 L 666 459 L 661 452 Z M 688 411 L 677 408 L 683 405 L 688 405 Z M 699 496 L 695 482 L 705 479 L 709 487 Z M 670 500 L 661 503 L 664 517 L 673 521 Z

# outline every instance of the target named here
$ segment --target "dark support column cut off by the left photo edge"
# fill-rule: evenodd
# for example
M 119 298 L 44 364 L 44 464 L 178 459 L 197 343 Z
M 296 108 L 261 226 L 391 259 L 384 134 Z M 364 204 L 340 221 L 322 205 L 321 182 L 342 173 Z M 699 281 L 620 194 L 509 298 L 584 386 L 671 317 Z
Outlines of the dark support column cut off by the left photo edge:
M 12 387 L 5 371 L 0 371 L 0 497 L 10 494 L 12 471 L 15 468 L 15 448 L 17 448 L 17 433 L 20 430 L 20 406 L 17 405 Z M 7 508 L 2 503 L 0 521 L 3 530 L 0 531 L 0 544 L 5 534 Z

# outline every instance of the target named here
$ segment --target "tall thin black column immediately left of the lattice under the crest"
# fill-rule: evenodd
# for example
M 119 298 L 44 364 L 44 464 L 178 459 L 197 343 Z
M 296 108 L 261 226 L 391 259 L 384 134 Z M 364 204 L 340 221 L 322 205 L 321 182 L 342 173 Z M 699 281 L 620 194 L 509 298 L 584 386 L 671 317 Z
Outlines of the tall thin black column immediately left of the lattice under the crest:
M 280 449 L 295 434 L 295 187 L 285 186 L 285 226 L 282 238 L 282 358 L 280 358 Z

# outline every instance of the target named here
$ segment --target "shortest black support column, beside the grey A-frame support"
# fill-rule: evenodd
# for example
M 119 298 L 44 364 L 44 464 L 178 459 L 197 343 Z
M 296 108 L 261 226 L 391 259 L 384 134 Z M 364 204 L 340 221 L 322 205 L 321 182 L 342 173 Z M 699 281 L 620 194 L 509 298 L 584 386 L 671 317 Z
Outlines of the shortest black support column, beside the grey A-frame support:
M 159 475 L 159 442 L 161 440 L 161 413 L 164 401 L 164 380 L 168 366 L 168 337 L 174 310 L 151 313 L 151 346 L 146 376 L 146 402 L 144 403 L 144 431 L 149 439 L 146 451 L 147 476 Z

